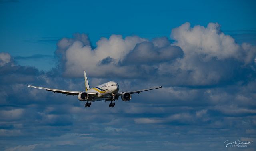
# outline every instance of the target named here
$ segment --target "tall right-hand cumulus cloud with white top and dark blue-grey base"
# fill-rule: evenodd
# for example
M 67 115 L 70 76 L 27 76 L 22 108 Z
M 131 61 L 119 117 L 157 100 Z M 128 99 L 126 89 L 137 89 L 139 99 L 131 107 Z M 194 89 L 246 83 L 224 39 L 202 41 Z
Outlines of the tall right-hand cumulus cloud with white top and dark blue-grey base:
M 234 83 L 254 74 L 248 68 L 255 68 L 255 46 L 236 44 L 234 38 L 221 32 L 217 23 L 209 23 L 205 28 L 199 25 L 190 27 L 187 22 L 174 28 L 170 37 L 175 40 L 174 45 L 182 48 L 184 58 L 173 64 L 163 64 L 159 72 L 173 75 L 170 81 L 175 85 Z M 175 77 L 183 80 L 177 83 Z

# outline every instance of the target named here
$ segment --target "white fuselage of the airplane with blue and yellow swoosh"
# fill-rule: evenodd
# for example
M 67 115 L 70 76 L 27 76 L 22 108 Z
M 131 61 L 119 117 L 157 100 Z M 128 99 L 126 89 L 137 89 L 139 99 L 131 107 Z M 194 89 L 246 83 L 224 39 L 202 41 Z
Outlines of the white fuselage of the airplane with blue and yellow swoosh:
M 88 89 L 86 92 L 93 92 L 98 93 L 98 97 L 92 98 L 92 101 L 100 101 L 104 100 L 106 97 L 111 96 L 112 94 L 118 93 L 119 85 L 114 82 L 110 81 L 96 87 L 92 87 Z

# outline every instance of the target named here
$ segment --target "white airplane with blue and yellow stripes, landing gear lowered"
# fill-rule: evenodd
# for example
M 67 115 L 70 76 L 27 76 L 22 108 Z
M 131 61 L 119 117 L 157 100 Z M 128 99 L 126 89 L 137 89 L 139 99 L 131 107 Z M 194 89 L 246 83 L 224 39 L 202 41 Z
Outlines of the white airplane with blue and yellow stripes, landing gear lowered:
M 32 87 L 32 88 L 36 88 L 36 89 L 44 89 L 46 91 L 52 91 L 53 93 L 66 94 L 67 96 L 68 95 L 73 95 L 73 96 L 77 95 L 77 98 L 79 101 L 87 101 L 85 103 L 84 107 L 90 107 L 92 104 L 91 102 L 102 101 L 102 100 L 105 100 L 105 102 L 111 101 L 111 103 L 108 105 L 108 107 L 114 107 L 116 105 L 116 103 L 115 102 L 113 103 L 113 101 L 118 100 L 119 96 L 121 96 L 121 99 L 126 102 L 126 101 L 130 101 L 130 99 L 132 99 L 132 94 L 134 94 L 134 93 L 139 94 L 140 92 L 143 92 L 143 91 L 149 91 L 149 90 L 153 90 L 153 89 L 162 88 L 162 86 L 160 86 L 160 87 L 152 87 L 150 89 L 142 89 L 142 90 L 138 90 L 138 91 L 118 92 L 119 85 L 118 85 L 118 83 L 116 83 L 114 81 L 109 81 L 107 83 L 90 88 L 85 71 L 84 71 L 84 83 L 85 83 L 85 91 L 66 91 L 66 90 L 60 90 L 60 89 L 49 89 L 49 88 L 45 88 L 45 87 L 36 87 L 36 86 L 32 86 L 32 85 L 27 85 L 27 84 L 25 84 L 25 85 L 27 87 Z

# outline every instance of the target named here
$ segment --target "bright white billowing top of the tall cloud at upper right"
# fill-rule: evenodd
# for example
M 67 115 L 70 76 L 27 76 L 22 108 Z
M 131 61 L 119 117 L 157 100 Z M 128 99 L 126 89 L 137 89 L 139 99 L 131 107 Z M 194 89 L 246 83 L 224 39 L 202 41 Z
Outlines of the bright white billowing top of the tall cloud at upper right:
M 206 28 L 199 25 L 192 28 L 190 23 L 186 22 L 172 29 L 171 37 L 176 40 L 174 44 L 180 46 L 187 55 L 199 55 L 206 61 L 211 58 L 218 60 L 236 58 L 248 63 L 252 61 L 246 60 L 248 55 L 252 53 L 255 56 L 256 53 L 255 48 L 248 50 L 250 49 L 248 46 L 249 48 L 245 50 L 244 46 L 236 44 L 234 38 L 221 32 L 218 23 L 209 23 Z

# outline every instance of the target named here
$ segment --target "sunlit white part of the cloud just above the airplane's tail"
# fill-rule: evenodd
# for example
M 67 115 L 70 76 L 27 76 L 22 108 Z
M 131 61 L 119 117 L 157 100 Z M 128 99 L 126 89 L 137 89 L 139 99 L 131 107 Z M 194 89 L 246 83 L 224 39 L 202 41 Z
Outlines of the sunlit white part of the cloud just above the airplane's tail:
M 109 39 L 101 38 L 97 42 L 97 48 L 84 46 L 80 41 L 75 41 L 68 47 L 65 54 L 65 74 L 80 77 L 83 70 L 90 71 L 90 76 L 104 76 L 107 73 L 125 75 L 126 68 L 115 68 L 120 60 L 128 54 L 136 44 L 145 41 L 137 36 L 126 37 L 112 35 Z M 112 64 L 97 66 L 99 62 L 107 57 L 113 59 Z M 95 70 L 97 69 L 97 70 Z

